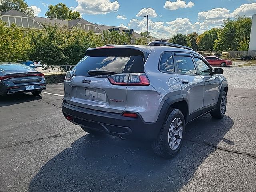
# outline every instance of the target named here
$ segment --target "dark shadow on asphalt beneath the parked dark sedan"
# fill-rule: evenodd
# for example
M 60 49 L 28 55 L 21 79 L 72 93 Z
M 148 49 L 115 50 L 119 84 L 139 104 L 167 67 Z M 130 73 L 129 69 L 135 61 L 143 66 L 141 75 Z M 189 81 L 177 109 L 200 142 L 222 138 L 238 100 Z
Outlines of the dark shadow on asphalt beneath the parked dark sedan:
M 10 94 L 7 96 L 0 96 L 0 107 L 34 101 L 38 99 L 42 99 L 42 97 L 33 96 L 31 93 L 17 93 L 17 94 Z

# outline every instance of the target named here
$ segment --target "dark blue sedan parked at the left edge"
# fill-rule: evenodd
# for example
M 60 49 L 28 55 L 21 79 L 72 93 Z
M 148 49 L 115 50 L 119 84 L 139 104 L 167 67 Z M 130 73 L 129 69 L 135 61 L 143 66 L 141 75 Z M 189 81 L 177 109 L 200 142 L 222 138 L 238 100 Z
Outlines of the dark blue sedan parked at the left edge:
M 44 74 L 24 64 L 0 62 L 0 95 L 31 92 L 39 96 L 44 89 Z

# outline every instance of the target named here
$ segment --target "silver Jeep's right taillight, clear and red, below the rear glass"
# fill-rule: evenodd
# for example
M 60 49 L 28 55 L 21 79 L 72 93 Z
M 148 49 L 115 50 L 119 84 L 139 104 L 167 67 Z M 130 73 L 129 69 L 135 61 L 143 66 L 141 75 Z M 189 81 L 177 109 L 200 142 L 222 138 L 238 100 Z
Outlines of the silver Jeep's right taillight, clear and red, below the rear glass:
M 150 82 L 144 73 L 117 74 L 108 77 L 113 85 L 148 86 Z

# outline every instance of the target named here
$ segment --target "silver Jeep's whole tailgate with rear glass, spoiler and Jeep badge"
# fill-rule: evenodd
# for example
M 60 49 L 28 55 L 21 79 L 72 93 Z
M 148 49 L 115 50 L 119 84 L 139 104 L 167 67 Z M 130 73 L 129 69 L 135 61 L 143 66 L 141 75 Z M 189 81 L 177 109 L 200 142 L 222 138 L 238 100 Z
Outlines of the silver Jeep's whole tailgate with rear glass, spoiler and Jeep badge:
M 130 73 L 144 73 L 147 53 L 132 48 L 104 47 L 86 51 L 64 82 L 67 103 L 106 112 L 122 113 Z M 88 74 L 88 71 L 96 71 Z M 97 71 L 116 74 L 98 74 Z

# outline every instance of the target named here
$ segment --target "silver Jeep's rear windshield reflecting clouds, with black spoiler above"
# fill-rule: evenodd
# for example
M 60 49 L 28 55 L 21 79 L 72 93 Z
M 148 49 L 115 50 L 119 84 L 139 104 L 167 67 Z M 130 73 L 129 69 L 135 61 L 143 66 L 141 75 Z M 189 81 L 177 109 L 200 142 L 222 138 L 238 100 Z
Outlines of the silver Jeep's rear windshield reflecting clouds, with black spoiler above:
M 90 70 L 120 73 L 144 73 L 144 54 L 138 50 L 120 52 L 120 49 L 91 50 L 72 69 L 76 76 L 90 76 Z M 128 50 L 128 49 L 126 49 Z

